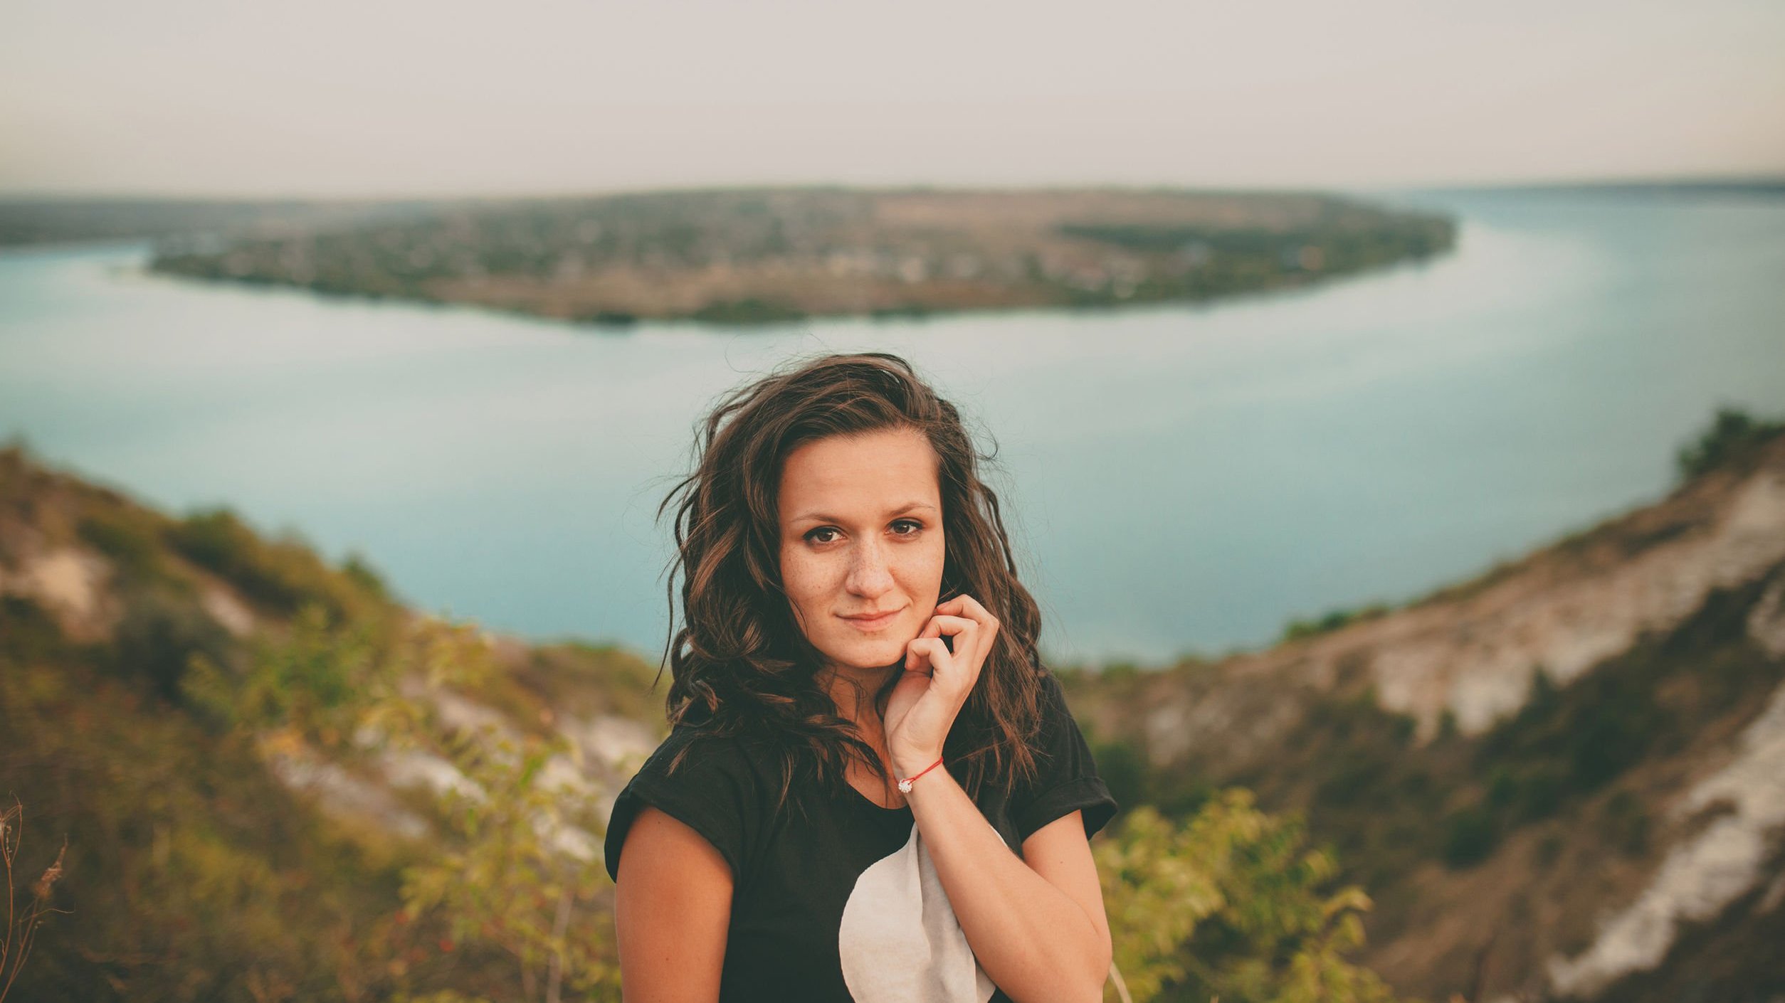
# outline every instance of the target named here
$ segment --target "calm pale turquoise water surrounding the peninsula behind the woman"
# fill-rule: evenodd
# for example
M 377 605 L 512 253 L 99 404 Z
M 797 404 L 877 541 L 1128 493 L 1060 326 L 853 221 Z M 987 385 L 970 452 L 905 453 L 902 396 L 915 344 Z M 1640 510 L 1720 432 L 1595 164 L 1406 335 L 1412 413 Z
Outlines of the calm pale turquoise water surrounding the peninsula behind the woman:
M 653 523 L 716 394 L 884 348 L 998 441 L 1057 660 L 1273 639 L 1665 493 L 1719 403 L 1785 412 L 1785 200 L 1405 196 L 1426 264 L 1216 307 L 596 334 L 0 255 L 0 435 L 168 510 L 227 503 L 412 603 L 662 642 Z

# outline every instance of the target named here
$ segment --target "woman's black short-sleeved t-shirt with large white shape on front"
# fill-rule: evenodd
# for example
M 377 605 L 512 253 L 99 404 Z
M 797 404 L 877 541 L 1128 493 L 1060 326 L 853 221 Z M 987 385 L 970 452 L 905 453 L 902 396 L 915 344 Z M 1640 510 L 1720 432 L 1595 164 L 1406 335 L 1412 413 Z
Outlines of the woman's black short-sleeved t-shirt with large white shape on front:
M 1019 857 L 1025 839 L 1073 810 L 1083 812 L 1087 837 L 1116 814 L 1060 682 L 1046 671 L 1039 678 L 1035 776 L 1010 787 L 985 782 L 975 800 Z M 646 803 L 725 857 L 732 919 L 723 1001 L 1009 1003 L 978 967 L 910 807 L 885 808 L 844 789 L 819 794 L 796 782 L 789 800 L 800 798 L 805 814 L 793 805 L 773 814 L 780 766 L 771 750 L 677 728 L 614 801 L 607 873 L 618 880 L 627 830 Z

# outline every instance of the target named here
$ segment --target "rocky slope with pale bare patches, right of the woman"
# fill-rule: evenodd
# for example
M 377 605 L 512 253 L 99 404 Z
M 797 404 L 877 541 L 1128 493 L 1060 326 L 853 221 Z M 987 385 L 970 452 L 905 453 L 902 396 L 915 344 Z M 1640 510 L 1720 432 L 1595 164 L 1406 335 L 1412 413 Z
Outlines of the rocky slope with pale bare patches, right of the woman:
M 1785 437 L 1405 609 L 1075 684 L 1130 796 L 1305 810 L 1403 991 L 1785 992 Z

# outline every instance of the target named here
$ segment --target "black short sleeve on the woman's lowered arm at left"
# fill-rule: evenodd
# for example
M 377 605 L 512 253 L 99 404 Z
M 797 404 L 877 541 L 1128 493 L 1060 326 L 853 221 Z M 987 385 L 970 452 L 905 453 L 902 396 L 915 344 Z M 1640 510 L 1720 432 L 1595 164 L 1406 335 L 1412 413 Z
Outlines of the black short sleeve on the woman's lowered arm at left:
M 671 773 L 669 762 L 684 748 L 687 755 Z M 646 805 L 698 832 L 732 867 L 732 880 L 744 883 L 757 842 L 759 792 L 737 741 L 677 728 L 644 760 L 607 819 L 602 853 L 616 882 L 627 832 Z

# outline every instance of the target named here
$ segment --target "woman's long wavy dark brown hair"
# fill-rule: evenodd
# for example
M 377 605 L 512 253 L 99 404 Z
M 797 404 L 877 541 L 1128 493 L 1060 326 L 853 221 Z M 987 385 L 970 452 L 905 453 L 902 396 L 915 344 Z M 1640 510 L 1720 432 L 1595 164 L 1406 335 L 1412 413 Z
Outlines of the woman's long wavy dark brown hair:
M 839 716 L 818 680 L 823 657 L 782 589 L 776 507 L 782 464 L 793 450 L 884 428 L 921 432 L 939 459 L 941 598 L 969 594 L 1000 623 L 942 758 L 969 794 L 1035 769 L 1028 742 L 1041 717 L 1041 610 L 1017 580 L 998 494 L 980 480 L 980 464 L 992 457 L 976 450 L 955 405 L 898 355 L 825 355 L 725 396 L 696 428 L 693 473 L 657 509 L 659 519 L 675 510 L 677 541 L 666 585 L 669 723 L 764 739 L 782 767 L 776 810 L 801 775 L 841 794 L 851 758 L 889 780 L 878 753 Z M 873 694 L 878 712 L 898 680 L 900 673 L 891 673 Z M 671 771 L 689 748 L 671 760 Z

